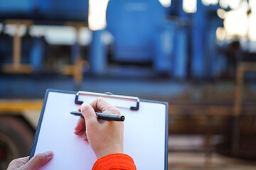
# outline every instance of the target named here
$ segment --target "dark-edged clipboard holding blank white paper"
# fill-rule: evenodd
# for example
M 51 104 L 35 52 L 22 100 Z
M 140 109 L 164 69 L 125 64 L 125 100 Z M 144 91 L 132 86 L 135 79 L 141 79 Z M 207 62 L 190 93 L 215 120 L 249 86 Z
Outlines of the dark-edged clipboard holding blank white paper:
M 79 117 L 70 114 L 83 103 L 102 97 L 119 108 L 124 120 L 124 154 L 138 170 L 168 169 L 168 103 L 132 96 L 48 89 L 30 159 L 52 150 L 53 159 L 40 169 L 92 169 L 97 161 L 88 142 L 74 134 Z M 104 141 L 102 141 L 104 142 Z

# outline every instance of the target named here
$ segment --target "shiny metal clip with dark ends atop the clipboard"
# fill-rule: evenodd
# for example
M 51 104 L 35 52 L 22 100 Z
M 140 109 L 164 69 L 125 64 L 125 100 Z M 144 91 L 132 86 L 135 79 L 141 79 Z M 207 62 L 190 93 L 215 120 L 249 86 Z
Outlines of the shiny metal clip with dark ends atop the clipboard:
M 89 96 L 99 96 L 99 97 L 107 97 L 107 98 L 120 98 L 120 99 L 128 99 L 128 100 L 134 100 L 137 101 L 136 106 L 130 106 L 130 110 L 132 111 L 138 111 L 139 110 L 139 98 L 138 97 L 131 97 L 131 96 L 120 96 L 120 95 L 113 95 L 113 94 L 97 94 L 87 91 L 78 91 L 77 94 L 75 94 L 75 104 L 81 105 L 83 101 L 78 101 L 79 95 L 89 95 Z

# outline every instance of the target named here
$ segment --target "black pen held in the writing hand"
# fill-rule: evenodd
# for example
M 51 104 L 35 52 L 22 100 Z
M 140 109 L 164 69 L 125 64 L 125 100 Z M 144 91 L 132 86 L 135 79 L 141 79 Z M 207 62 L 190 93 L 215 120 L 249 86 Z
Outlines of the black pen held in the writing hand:
M 83 118 L 83 115 L 80 111 L 72 111 L 70 112 L 72 115 L 78 115 Z M 97 113 L 97 119 L 100 120 L 113 120 L 113 121 L 124 121 L 124 115 L 114 115 L 110 113 Z

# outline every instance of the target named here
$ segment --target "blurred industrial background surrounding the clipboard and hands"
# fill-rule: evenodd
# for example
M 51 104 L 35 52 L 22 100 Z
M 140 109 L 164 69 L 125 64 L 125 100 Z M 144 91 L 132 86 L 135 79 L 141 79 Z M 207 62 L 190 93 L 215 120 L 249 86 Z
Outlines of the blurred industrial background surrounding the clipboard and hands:
M 169 169 L 256 169 L 255 80 L 255 0 L 0 0 L 0 169 L 46 89 L 167 101 Z

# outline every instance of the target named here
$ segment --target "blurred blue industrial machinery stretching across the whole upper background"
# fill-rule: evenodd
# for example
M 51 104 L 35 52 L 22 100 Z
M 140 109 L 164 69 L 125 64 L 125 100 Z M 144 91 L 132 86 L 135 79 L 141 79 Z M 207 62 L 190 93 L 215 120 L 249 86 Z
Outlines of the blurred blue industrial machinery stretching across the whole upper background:
M 92 42 L 87 46 L 89 52 L 82 53 L 90 62 L 85 77 L 95 74 L 111 77 L 117 72 L 122 77 L 136 77 L 138 73 L 141 77 L 164 74 L 175 79 L 219 77 L 219 66 L 225 62 L 215 45 L 216 28 L 223 26 L 223 20 L 216 14 L 220 6 L 204 6 L 198 0 L 196 13 L 185 13 L 182 3 L 181 0 L 172 0 L 171 6 L 164 8 L 158 0 L 110 0 L 105 30 L 112 34 L 114 41 L 106 46 L 102 42 L 105 30 L 92 31 Z M 65 24 L 65 21 L 87 22 L 88 6 L 88 0 L 0 0 L 0 20 L 30 19 L 35 24 L 45 25 Z M 22 39 L 21 62 L 33 64 L 40 74 L 40 68 L 48 68 L 43 64 L 47 56 L 54 53 L 50 51 L 53 47 L 50 48 L 44 38 L 28 36 Z M 11 45 L 11 37 L 1 33 L 0 65 L 12 61 Z M 65 63 L 73 64 L 81 50 L 75 43 L 59 51 L 63 53 L 56 53 L 56 56 L 69 55 Z M 112 65 L 118 65 L 119 69 L 113 69 Z

